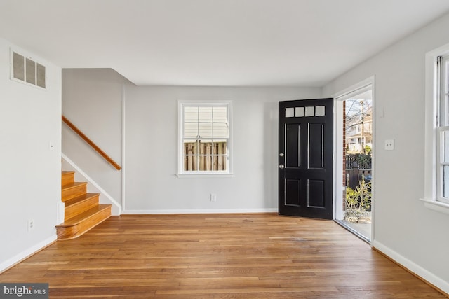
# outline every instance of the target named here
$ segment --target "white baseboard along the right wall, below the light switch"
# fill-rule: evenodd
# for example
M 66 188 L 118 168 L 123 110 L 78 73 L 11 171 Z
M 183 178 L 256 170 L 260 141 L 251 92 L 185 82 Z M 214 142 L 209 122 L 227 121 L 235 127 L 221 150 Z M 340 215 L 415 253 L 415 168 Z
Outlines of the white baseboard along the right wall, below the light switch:
M 385 246 L 384 244 L 378 241 L 373 241 L 373 249 L 382 254 L 382 256 L 385 256 L 389 260 L 392 260 L 394 263 L 403 267 L 403 269 L 415 275 L 417 278 L 421 279 L 426 284 L 429 284 L 429 286 L 435 288 L 436 291 L 439 291 L 440 293 L 449 298 L 448 281 L 445 281 L 440 277 L 436 276 L 435 274 L 429 272 L 428 270 L 425 270 L 420 265 L 413 263 L 413 261 L 409 260 L 408 258 L 405 258 L 404 256 L 401 256 L 401 254 L 397 253 L 396 251 L 390 249 L 388 246 Z

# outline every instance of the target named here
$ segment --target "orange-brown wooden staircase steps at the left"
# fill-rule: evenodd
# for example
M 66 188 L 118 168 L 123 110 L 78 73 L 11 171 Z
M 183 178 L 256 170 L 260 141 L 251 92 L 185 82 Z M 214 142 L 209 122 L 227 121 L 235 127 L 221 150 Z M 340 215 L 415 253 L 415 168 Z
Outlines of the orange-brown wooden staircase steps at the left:
M 98 193 L 87 193 L 87 183 L 74 181 L 75 172 L 62 172 L 64 223 L 56 225 L 58 239 L 74 239 L 111 216 L 112 204 L 99 204 Z

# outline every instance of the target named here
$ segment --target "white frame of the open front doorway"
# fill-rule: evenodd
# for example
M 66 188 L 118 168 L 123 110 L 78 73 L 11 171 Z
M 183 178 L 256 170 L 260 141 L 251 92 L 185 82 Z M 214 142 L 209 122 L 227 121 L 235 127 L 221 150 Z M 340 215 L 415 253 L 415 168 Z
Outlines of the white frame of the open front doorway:
M 342 216 L 341 211 L 338 210 L 337 207 L 342 207 L 343 204 L 343 101 L 345 96 L 350 95 L 351 93 L 358 92 L 363 90 L 364 88 L 370 87 L 372 96 L 373 96 L 373 147 L 371 148 L 372 153 L 372 166 L 371 173 L 375 178 L 375 153 L 376 153 L 376 119 L 377 119 L 377 104 L 375 101 L 375 76 L 371 76 L 366 78 L 363 81 L 360 81 L 354 85 L 349 86 L 349 88 L 344 88 L 339 92 L 335 92 L 332 95 L 334 98 L 334 169 L 333 169 L 333 218 L 337 219 L 337 216 Z M 379 115 L 383 117 L 383 110 Z M 371 183 L 371 193 L 372 193 L 372 202 L 371 202 L 371 242 L 370 246 L 373 246 L 373 240 L 375 239 L 375 179 Z M 340 204 L 340 206 L 339 206 Z

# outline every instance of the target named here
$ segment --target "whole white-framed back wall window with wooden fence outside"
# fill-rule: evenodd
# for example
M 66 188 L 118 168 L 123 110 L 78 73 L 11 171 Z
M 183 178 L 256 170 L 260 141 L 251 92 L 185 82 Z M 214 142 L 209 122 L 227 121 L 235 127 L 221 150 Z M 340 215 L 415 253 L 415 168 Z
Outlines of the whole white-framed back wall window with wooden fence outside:
M 178 176 L 231 174 L 231 107 L 178 103 Z

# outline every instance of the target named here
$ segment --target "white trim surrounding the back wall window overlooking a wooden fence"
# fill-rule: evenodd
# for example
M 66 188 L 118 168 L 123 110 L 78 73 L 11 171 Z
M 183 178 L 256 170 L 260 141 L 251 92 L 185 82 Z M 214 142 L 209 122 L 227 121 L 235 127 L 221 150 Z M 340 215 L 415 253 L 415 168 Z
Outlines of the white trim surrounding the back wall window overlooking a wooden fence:
M 184 106 L 222 106 L 227 105 L 228 107 L 228 122 L 229 122 L 229 139 L 228 139 L 228 169 L 224 172 L 185 172 L 183 165 L 183 144 L 182 144 L 182 133 L 184 130 Z M 177 174 L 178 178 L 182 177 L 232 177 L 232 101 L 177 101 Z

